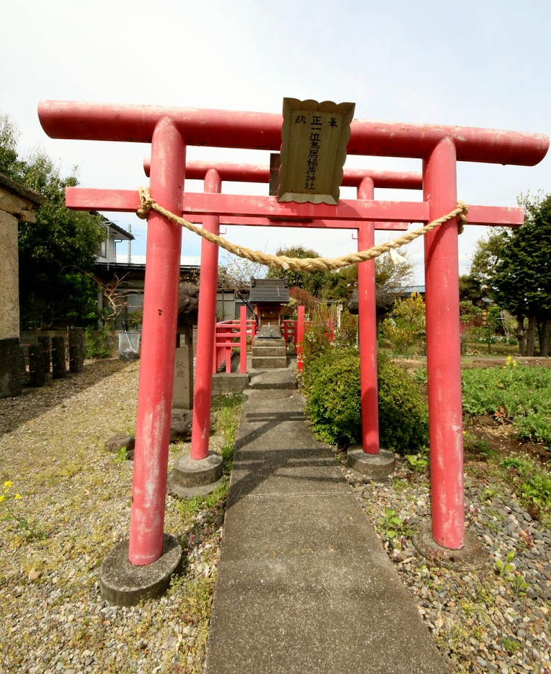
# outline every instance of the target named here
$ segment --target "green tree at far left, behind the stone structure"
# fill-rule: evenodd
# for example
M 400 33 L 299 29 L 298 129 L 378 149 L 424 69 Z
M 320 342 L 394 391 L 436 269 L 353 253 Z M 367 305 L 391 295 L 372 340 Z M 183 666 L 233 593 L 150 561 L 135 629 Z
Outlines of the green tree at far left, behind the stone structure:
M 98 310 L 90 273 L 105 229 L 98 216 L 65 207 L 65 187 L 77 184 L 75 173 L 61 178 L 59 167 L 40 151 L 19 158 L 18 138 L 8 116 L 0 116 L 0 171 L 46 198 L 34 211 L 36 224 L 19 225 L 21 328 L 92 324 Z

